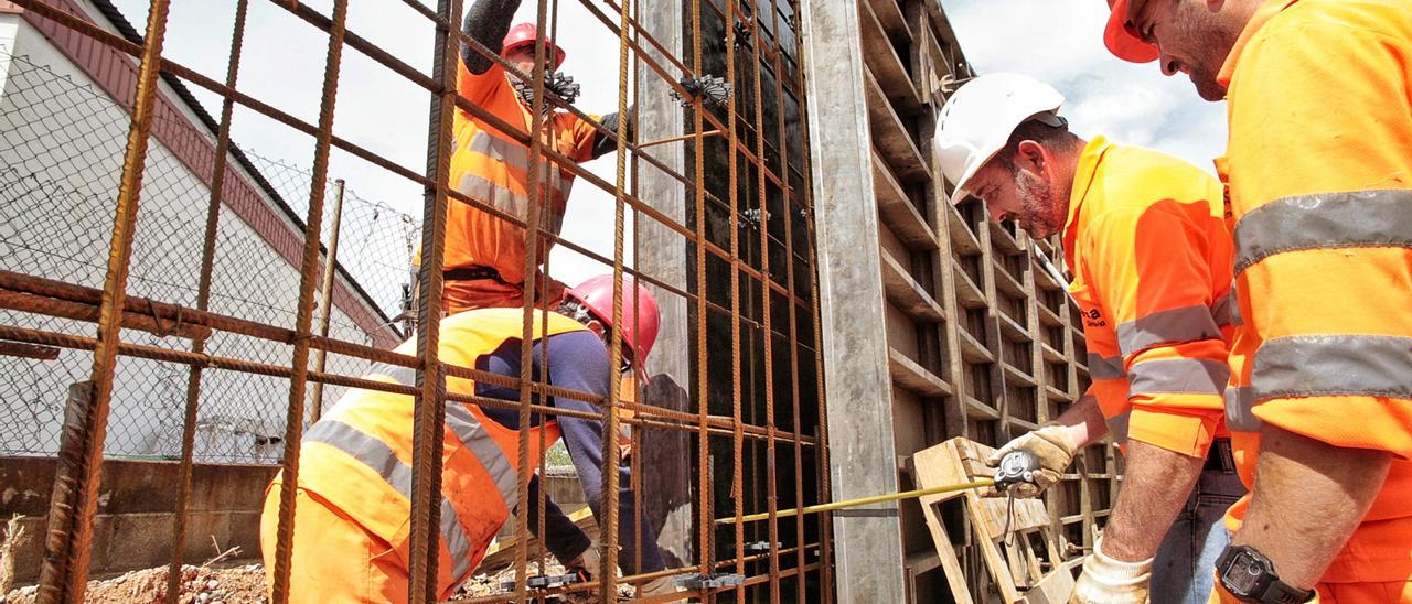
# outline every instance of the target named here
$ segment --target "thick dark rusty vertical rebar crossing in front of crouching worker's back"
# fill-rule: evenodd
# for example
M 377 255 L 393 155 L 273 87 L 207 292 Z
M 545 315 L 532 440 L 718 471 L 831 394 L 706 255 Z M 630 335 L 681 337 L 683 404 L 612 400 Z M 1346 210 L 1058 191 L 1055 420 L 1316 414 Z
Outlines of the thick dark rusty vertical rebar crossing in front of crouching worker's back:
M 441 363 L 442 262 L 446 254 L 446 188 L 450 186 L 450 128 L 460 61 L 460 0 L 438 0 L 432 44 L 432 78 L 441 89 L 431 97 L 426 133 L 426 176 L 422 195 L 422 264 L 418 275 L 415 415 L 412 418 L 412 501 L 408 601 L 438 598 L 438 526 L 446 380 Z

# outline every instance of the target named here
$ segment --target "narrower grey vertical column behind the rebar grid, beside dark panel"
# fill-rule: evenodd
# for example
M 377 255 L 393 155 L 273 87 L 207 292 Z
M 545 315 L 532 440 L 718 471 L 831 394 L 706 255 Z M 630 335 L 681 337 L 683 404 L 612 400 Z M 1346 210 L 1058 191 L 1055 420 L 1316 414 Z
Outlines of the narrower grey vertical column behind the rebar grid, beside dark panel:
M 650 3 L 637 11 L 638 23 L 657 41 L 676 56 L 682 55 L 682 3 Z M 651 56 L 671 73 L 672 64 L 655 47 L 644 41 L 644 56 Z M 658 141 L 678 137 L 683 133 L 682 107 L 672 99 L 672 87 L 642 61 L 637 68 L 637 140 L 640 143 Z M 675 75 L 681 78 L 681 75 Z M 648 154 L 671 167 L 678 174 L 685 174 L 683 143 L 668 143 L 645 150 Z M 652 207 L 661 210 L 682 224 L 686 223 L 686 186 L 662 172 L 647 161 L 638 161 L 638 193 Z M 686 240 L 671 229 L 658 224 L 655 220 L 638 216 L 637 219 L 637 268 L 661 279 L 672 286 L 689 291 L 686 286 Z M 657 336 L 657 346 L 652 347 L 652 358 L 648 370 L 655 377 L 652 388 L 644 392 L 650 404 L 676 408 L 690 406 L 685 392 L 679 388 L 668 388 L 662 374 L 682 387 L 692 382 L 690 363 L 690 322 L 686 313 L 688 303 L 676 294 L 669 294 L 654 288 L 658 306 L 662 313 L 662 327 Z M 652 398 L 658 399 L 652 399 Z M 685 411 L 685 409 L 682 409 Z M 650 430 L 645 437 L 672 440 L 674 435 L 657 435 Z M 675 440 L 672 440 L 675 443 Z M 671 463 L 666 463 L 671 461 Z M 695 562 L 692 556 L 692 535 L 695 521 L 690 507 L 690 459 L 689 450 L 682 449 L 682 459 L 662 460 L 644 464 L 645 481 L 650 488 L 645 497 L 665 498 L 665 519 L 652 518 L 654 525 L 661 522 L 658 543 L 683 563 Z M 650 471 L 648 471 L 650 470 Z M 658 505 L 650 505 L 657 509 Z M 659 512 L 654 511 L 654 515 Z

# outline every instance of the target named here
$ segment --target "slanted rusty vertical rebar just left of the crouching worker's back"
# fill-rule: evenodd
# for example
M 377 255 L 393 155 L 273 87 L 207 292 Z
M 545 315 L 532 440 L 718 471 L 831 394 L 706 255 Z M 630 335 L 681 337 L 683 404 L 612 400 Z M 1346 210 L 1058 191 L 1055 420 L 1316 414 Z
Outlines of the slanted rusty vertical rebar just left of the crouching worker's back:
M 313 325 L 313 285 L 319 267 L 319 236 L 323 224 L 323 195 L 328 188 L 329 144 L 333 138 L 333 107 L 339 89 L 339 66 L 343 58 L 343 34 L 347 20 L 347 0 L 333 0 L 333 23 L 329 28 L 329 52 L 323 65 L 323 92 L 319 102 L 319 127 L 313 144 L 313 176 L 309 183 L 309 215 L 305 219 L 304 255 L 299 262 L 299 302 L 295 315 L 294 358 L 289 364 L 289 408 L 284 428 L 284 469 L 280 485 L 280 526 L 275 543 L 275 572 L 273 600 L 284 604 L 289 598 L 289 563 L 294 540 L 294 497 L 299 480 L 299 439 L 304 433 L 304 397 L 309 377 L 309 340 Z

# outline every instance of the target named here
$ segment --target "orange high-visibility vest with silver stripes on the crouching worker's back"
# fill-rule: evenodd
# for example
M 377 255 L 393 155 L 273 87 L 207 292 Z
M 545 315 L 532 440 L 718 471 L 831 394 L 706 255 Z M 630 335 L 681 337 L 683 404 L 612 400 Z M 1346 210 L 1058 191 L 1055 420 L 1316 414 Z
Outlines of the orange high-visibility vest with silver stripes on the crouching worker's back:
M 442 319 L 441 358 L 474 367 L 507 340 L 522 334 L 521 309 L 479 309 Z M 535 310 L 535 339 L 586 329 L 559 313 Z M 417 340 L 397 349 L 417 353 Z M 371 380 L 411 385 L 415 373 L 378 366 Z M 476 384 L 446 377 L 446 391 L 473 395 Z M 411 548 L 412 397 L 350 389 L 305 433 L 299 450 L 299 488 L 347 514 L 369 533 L 387 540 L 407 562 Z M 559 439 L 555 422 L 544 425 L 545 445 Z M 531 429 L 530 456 L 539 457 L 541 428 Z M 441 598 L 466 580 L 518 501 L 520 433 L 486 418 L 480 408 L 446 402 L 442 452 L 441 531 L 436 586 Z M 278 490 L 282 477 L 275 477 Z M 330 552 L 337 556 L 337 552 Z M 295 569 L 298 572 L 298 569 Z

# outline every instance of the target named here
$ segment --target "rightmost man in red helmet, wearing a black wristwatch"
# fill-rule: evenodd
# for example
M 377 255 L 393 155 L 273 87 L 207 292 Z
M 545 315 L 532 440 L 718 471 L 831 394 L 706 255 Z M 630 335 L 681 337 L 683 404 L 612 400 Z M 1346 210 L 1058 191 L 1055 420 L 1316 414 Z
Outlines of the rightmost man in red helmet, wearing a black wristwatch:
M 1120 0 L 1108 48 L 1227 102 L 1227 601 L 1412 603 L 1412 4 Z

